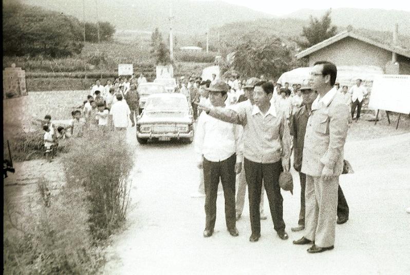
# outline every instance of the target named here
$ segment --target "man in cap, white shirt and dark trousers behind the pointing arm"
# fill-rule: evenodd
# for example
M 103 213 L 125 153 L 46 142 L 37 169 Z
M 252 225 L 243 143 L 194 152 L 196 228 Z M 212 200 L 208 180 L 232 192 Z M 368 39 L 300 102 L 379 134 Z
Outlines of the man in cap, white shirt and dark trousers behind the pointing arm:
M 221 81 L 211 85 L 208 88 L 211 104 L 225 106 L 228 89 L 228 85 Z M 206 194 L 203 237 L 211 237 L 214 232 L 219 180 L 225 197 L 226 225 L 229 233 L 236 237 L 239 233 L 235 219 L 235 174 L 242 168 L 243 152 L 240 128 L 202 112 L 196 129 L 195 151 L 199 155 L 198 168 L 203 168 Z

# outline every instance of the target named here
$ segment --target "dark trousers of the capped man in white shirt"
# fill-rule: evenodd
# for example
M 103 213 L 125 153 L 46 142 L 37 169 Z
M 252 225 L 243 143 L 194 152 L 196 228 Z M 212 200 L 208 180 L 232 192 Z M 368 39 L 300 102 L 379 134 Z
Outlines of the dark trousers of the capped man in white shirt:
M 222 183 L 225 197 L 225 220 L 228 229 L 236 226 L 235 217 L 235 162 L 233 154 L 225 161 L 210 162 L 203 159 L 203 181 L 205 185 L 206 230 L 214 230 L 216 221 L 216 198 L 219 180 Z

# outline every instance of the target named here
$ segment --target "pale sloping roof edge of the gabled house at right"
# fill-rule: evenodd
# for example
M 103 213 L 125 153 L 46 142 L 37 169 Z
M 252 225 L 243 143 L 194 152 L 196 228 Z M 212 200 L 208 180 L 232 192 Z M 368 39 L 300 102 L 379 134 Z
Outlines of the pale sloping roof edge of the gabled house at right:
M 303 50 L 300 53 L 296 54 L 296 58 L 300 59 L 302 57 L 308 56 L 311 53 L 313 53 L 315 51 L 318 51 L 320 49 L 323 49 L 323 48 L 325 48 L 325 47 L 327 47 L 327 46 L 329 46 L 329 45 L 331 45 L 335 42 L 338 42 L 338 41 L 340 41 L 340 40 L 342 40 L 346 37 L 352 37 L 352 38 L 355 38 L 355 39 L 357 39 L 359 41 L 362 41 L 364 43 L 368 43 L 370 45 L 374 45 L 374 46 L 379 47 L 381 49 L 391 51 L 391 52 L 395 52 L 397 54 L 400 54 L 402 56 L 410 58 L 410 51 L 409 50 L 403 49 L 399 46 L 384 44 L 384 43 L 381 43 L 379 41 L 374 40 L 373 38 L 370 38 L 370 37 L 365 36 L 363 34 L 359 34 L 359 33 L 352 32 L 352 31 L 344 31 L 344 32 L 338 33 L 338 34 L 336 34 L 336 35 L 334 35 L 330 38 L 327 38 L 326 40 L 324 40 L 324 41 L 322 41 L 322 42 L 320 42 L 316 45 L 313 45 L 312 47 L 307 48 L 306 50 Z

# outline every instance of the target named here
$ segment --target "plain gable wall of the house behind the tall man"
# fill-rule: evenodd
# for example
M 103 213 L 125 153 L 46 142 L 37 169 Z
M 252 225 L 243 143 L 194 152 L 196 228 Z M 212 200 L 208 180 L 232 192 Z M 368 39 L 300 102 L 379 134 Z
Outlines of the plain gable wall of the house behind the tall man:
M 392 61 L 392 52 L 346 37 L 309 55 L 309 65 L 316 61 L 330 61 L 337 66 L 379 66 Z

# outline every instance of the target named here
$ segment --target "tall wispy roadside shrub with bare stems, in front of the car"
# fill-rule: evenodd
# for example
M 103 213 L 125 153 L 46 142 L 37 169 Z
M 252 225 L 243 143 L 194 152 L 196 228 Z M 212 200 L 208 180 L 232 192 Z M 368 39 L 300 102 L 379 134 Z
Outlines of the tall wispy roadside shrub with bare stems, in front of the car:
M 133 154 L 119 132 L 89 133 L 64 155 L 67 184 L 82 183 L 90 202 L 90 232 L 105 240 L 125 221 Z

